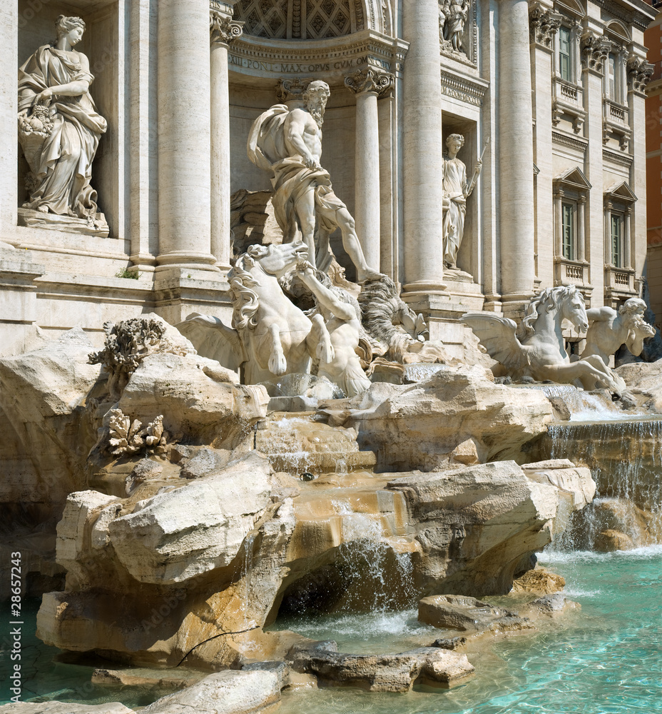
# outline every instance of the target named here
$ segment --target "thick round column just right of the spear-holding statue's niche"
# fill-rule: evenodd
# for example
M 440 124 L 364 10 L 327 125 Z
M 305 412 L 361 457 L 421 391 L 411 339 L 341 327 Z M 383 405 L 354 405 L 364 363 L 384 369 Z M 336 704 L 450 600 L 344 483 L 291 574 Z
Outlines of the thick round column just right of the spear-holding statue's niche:
M 497 96 L 501 127 L 499 241 L 504 313 L 516 312 L 534 290 L 534 151 L 529 53 L 526 0 L 501 0 Z M 514 304 L 506 306 L 506 303 Z

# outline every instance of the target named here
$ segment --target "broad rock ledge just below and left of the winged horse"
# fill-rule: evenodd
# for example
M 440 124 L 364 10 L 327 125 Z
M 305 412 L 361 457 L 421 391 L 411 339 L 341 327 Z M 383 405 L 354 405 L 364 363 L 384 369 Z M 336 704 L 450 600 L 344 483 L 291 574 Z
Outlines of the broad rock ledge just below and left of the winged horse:
M 382 471 L 517 458 L 552 420 L 541 391 L 496 385 L 482 367 L 446 367 L 412 386 L 376 383 L 351 404 L 334 416 L 357 429 Z

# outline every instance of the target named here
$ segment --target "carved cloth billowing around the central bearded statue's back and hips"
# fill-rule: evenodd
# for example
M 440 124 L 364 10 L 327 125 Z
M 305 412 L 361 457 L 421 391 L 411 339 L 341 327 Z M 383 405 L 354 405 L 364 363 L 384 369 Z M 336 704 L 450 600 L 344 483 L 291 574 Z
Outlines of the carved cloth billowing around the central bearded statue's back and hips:
M 346 208 L 331 187 L 324 169 L 308 169 L 301 156 L 290 156 L 283 125 L 290 113 L 285 104 L 275 104 L 253 123 L 248 136 L 248 158 L 255 166 L 273 171 L 271 184 L 274 215 L 282 230 L 283 242 L 293 241 L 297 233 L 297 203 L 312 191 L 315 198 L 317 231 L 328 234 L 337 227 L 335 211 Z

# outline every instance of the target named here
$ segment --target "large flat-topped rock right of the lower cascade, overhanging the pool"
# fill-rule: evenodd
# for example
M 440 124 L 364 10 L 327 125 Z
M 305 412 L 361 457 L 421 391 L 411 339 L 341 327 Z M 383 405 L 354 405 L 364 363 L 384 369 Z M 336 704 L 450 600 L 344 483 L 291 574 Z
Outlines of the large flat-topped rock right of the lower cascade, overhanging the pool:
M 581 486 L 567 496 L 576 498 L 574 508 L 583 508 L 591 473 L 588 468 L 576 471 Z M 513 461 L 502 461 L 413 473 L 389 483 L 403 493 L 421 546 L 414 563 L 422 593 L 481 597 L 510 590 L 523 558 L 551 540 L 559 500 L 566 498 L 559 496 L 563 488 L 528 473 Z

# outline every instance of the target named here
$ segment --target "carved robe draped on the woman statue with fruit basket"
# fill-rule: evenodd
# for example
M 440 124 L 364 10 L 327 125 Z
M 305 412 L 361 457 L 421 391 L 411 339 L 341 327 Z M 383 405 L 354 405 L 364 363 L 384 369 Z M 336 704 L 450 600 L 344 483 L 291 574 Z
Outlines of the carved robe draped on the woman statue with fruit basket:
M 44 89 L 93 79 L 86 56 L 44 45 L 19 69 L 19 114 L 30 114 L 36 95 Z M 54 94 L 49 119 L 53 128 L 43 143 L 36 136 L 21 141 L 36 179 L 25 208 L 46 206 L 59 215 L 93 217 L 98 208 L 90 186 L 92 161 L 106 132 L 106 119 L 97 113 L 88 91 L 80 96 Z

